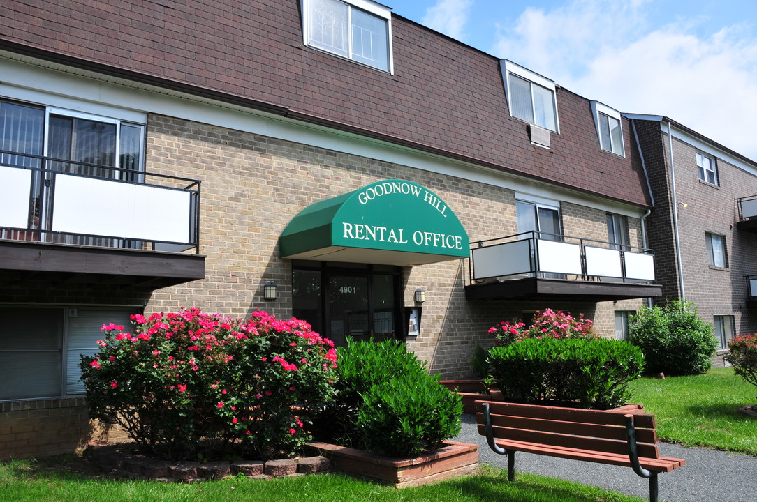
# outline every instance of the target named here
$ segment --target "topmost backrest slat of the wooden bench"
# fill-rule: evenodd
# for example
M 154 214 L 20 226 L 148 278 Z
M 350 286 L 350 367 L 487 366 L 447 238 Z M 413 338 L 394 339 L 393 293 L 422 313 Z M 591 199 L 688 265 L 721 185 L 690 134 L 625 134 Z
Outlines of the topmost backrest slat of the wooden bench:
M 624 414 L 603 410 L 582 410 L 541 406 L 540 404 L 518 404 L 502 401 L 475 401 L 476 411 L 481 411 L 481 403 L 488 402 L 492 415 L 516 415 L 518 417 L 545 418 L 547 420 L 567 420 L 570 422 L 600 423 L 625 426 Z M 654 415 L 634 414 L 634 426 L 637 429 L 656 429 Z

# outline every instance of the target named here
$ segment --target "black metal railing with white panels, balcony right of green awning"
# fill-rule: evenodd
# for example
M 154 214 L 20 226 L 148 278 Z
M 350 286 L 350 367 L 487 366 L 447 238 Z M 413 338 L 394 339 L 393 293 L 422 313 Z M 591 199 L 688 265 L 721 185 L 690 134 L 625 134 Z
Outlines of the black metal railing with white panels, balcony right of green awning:
M 655 282 L 650 249 L 544 232 L 481 240 L 469 264 L 471 284 L 493 277 Z

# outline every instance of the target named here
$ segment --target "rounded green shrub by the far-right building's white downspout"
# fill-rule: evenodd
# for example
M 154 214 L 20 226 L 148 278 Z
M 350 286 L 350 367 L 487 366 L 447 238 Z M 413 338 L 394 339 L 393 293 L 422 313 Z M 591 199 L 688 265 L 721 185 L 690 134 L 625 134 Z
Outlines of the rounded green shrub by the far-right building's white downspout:
M 642 307 L 631 316 L 628 341 L 646 356 L 653 373 L 694 375 L 712 367 L 717 342 L 712 324 L 702 321 L 692 302 L 676 300 L 665 307 Z

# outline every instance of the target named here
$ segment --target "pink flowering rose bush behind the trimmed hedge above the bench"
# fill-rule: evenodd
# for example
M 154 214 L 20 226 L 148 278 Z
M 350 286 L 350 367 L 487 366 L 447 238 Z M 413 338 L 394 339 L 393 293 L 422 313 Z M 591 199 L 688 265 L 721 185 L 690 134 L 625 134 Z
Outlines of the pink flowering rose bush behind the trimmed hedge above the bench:
M 509 346 L 512 342 L 528 338 L 598 338 L 593 322 L 585 319 L 583 314 L 573 317 L 570 312 L 553 311 L 551 308 L 537 311 L 531 326 L 522 322 L 502 321 L 489 328 L 489 333 L 494 335 L 495 346 Z

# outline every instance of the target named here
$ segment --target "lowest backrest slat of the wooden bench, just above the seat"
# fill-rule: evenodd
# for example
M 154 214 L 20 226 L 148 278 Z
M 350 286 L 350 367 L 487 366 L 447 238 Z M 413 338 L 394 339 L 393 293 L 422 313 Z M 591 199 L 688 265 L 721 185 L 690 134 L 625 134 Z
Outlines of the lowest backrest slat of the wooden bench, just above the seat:
M 600 451 L 609 454 L 625 454 L 628 456 L 628 443 L 615 439 L 587 438 L 585 436 L 557 434 L 555 432 L 540 432 L 525 429 L 511 429 L 509 427 L 492 426 L 494 438 L 510 441 L 537 443 L 540 445 L 561 446 L 564 448 L 580 448 L 584 450 Z M 478 433 L 486 435 L 486 426 L 478 424 Z M 637 443 L 639 457 L 657 458 L 657 445 Z

